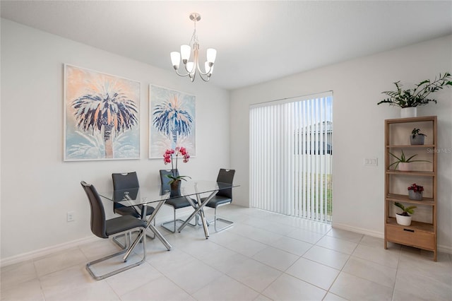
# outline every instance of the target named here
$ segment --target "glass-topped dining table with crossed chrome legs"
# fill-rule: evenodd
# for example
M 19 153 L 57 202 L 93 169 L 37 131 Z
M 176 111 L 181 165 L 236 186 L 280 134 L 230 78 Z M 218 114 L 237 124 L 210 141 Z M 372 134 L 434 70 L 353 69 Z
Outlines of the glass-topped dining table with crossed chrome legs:
M 111 191 L 104 191 L 100 192 L 99 195 L 102 197 L 102 199 L 106 199 L 108 201 L 114 201 L 116 203 L 120 203 L 123 206 L 127 207 L 134 207 L 138 211 L 145 211 L 146 206 L 143 205 L 149 205 L 155 207 L 154 212 L 148 216 L 147 218 L 147 225 L 148 228 L 155 234 L 155 236 L 162 242 L 162 244 L 165 245 L 167 250 L 169 251 L 171 249 L 171 244 L 163 237 L 163 235 L 159 232 L 159 230 L 153 225 L 153 220 L 155 219 L 155 216 L 157 216 L 157 213 L 162 208 L 163 204 L 167 199 L 172 199 L 174 197 L 186 197 L 186 199 L 191 203 L 191 206 L 194 208 L 194 212 L 191 213 L 191 215 L 186 218 L 184 223 L 179 226 L 177 229 L 178 232 L 181 232 L 185 226 L 197 215 L 201 217 L 201 222 L 204 229 L 204 234 L 206 235 L 206 239 L 209 237 L 209 231 L 208 231 L 208 221 L 206 220 L 206 216 L 204 215 L 203 208 L 206 206 L 208 201 L 215 196 L 215 194 L 220 191 L 221 189 L 228 189 L 232 187 L 238 187 L 237 184 L 229 184 L 229 183 L 221 183 L 221 182 L 215 182 L 215 181 L 182 181 L 180 193 L 174 194 L 174 191 L 169 190 L 162 190 L 162 187 L 160 185 L 149 185 L 149 186 L 142 186 L 139 188 L 133 188 L 133 189 L 124 189 L 124 190 L 111 190 Z M 203 199 L 201 201 L 201 196 L 205 195 L 207 196 L 206 199 Z M 193 197 L 196 197 L 196 203 L 193 201 Z M 142 212 L 141 216 L 143 216 L 143 219 L 145 219 L 146 213 Z M 143 235 L 138 235 L 135 241 L 131 244 L 129 247 L 129 252 L 126 253 L 124 256 L 124 260 L 127 259 L 130 252 L 133 250 L 133 248 L 138 244 L 138 242 L 141 240 L 141 237 Z

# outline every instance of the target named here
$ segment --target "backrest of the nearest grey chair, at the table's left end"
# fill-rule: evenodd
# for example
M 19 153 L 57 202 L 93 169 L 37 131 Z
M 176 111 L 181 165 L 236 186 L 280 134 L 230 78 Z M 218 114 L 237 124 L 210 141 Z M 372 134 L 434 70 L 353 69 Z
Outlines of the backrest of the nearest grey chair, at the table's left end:
M 105 210 L 97 190 L 92 184 L 85 181 L 80 183 L 85 190 L 91 207 L 91 232 L 101 238 L 108 238 L 106 234 Z

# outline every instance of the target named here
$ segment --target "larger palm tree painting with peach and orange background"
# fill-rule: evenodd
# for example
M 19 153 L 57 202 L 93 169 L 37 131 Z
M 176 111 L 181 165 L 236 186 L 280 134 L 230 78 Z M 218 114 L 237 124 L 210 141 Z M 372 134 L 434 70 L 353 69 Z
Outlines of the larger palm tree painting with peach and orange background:
M 65 160 L 139 158 L 140 83 L 65 65 Z

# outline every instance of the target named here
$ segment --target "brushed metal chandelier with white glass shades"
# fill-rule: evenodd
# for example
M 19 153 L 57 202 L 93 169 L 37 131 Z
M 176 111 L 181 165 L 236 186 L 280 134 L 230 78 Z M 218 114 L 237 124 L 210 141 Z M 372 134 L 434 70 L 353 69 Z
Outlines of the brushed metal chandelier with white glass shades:
M 199 76 L 203 81 L 209 81 L 210 76 L 213 72 L 213 63 L 215 61 L 215 57 L 217 56 L 217 51 L 213 48 L 207 49 L 207 61 L 204 63 L 204 71 L 201 71 L 199 67 L 199 42 L 198 35 L 196 35 L 196 22 L 201 20 L 201 15 L 199 13 L 191 13 L 190 20 L 194 22 L 194 31 L 193 35 L 191 35 L 191 39 L 189 45 L 182 45 L 181 52 L 171 52 L 171 62 L 174 70 L 176 70 L 177 75 L 179 76 L 189 76 L 190 81 L 195 80 L 196 71 L 198 71 Z M 193 51 L 193 55 L 191 52 Z M 193 57 L 193 61 L 189 61 L 189 59 Z M 179 73 L 179 64 L 182 58 L 182 63 L 184 64 L 184 71 Z

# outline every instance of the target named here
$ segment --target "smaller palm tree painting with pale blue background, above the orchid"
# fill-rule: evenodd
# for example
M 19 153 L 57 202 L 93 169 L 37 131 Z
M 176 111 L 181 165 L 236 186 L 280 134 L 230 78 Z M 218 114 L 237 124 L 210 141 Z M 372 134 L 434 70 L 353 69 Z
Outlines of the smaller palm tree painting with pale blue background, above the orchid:
M 195 155 L 195 96 L 150 85 L 149 158 L 184 146 Z

